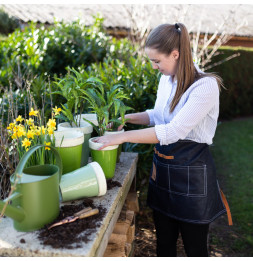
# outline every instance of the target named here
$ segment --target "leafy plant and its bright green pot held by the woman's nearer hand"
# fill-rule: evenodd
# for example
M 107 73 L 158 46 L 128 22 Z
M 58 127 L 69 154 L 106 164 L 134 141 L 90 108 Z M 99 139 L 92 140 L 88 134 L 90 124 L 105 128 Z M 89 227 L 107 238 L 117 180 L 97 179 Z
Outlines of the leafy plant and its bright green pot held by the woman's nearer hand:
M 97 114 L 98 126 L 95 126 L 91 121 L 85 119 L 96 130 L 98 136 L 104 135 L 108 130 L 110 123 L 115 122 L 115 118 L 111 117 L 112 111 L 115 115 L 120 110 L 121 101 L 127 98 L 123 93 L 121 85 L 114 85 L 110 90 L 105 91 L 103 84 L 98 84 L 96 88 L 88 88 L 82 90 L 84 99 L 88 102 L 92 112 Z M 103 150 L 98 150 L 102 144 L 93 142 L 94 138 L 89 140 L 91 149 L 91 157 L 93 161 L 97 161 L 102 167 L 105 177 L 112 178 L 114 176 L 118 145 L 108 146 Z

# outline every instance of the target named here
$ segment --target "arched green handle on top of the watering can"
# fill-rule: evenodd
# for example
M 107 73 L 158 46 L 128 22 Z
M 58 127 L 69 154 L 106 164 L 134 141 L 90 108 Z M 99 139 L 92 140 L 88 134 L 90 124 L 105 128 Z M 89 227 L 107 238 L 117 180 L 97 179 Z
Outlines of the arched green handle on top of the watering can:
M 62 160 L 61 160 L 61 157 L 59 155 L 59 152 L 52 146 L 49 146 L 49 145 L 42 145 L 42 144 L 39 144 L 39 145 L 35 145 L 33 147 L 31 147 L 24 155 L 23 157 L 21 158 L 20 162 L 18 163 L 18 166 L 16 168 L 16 171 L 15 171 L 15 174 L 19 174 L 19 175 L 22 175 L 23 173 L 23 170 L 24 170 L 24 167 L 25 167 L 25 164 L 26 162 L 28 161 L 28 159 L 31 157 L 31 155 L 39 148 L 42 148 L 42 147 L 49 147 L 54 155 L 55 155 L 55 158 L 56 158 L 56 164 L 57 166 L 59 167 L 59 178 L 61 180 L 61 175 L 62 175 Z

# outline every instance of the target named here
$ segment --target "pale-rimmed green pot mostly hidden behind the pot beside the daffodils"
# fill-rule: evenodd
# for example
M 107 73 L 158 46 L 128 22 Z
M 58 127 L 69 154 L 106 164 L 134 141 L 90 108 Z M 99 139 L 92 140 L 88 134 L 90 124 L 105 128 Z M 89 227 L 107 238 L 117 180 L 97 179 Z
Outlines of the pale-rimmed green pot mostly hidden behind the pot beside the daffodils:
M 84 141 L 82 144 L 82 154 L 81 154 L 81 165 L 83 167 L 88 164 L 89 160 L 89 139 L 91 138 L 91 133 L 93 131 L 93 127 L 91 124 L 85 121 L 80 122 L 80 127 L 71 126 L 68 122 L 63 122 L 58 125 L 58 131 L 80 131 L 84 135 Z M 69 170 L 71 171 L 71 170 Z M 69 172 L 68 171 L 68 172 Z

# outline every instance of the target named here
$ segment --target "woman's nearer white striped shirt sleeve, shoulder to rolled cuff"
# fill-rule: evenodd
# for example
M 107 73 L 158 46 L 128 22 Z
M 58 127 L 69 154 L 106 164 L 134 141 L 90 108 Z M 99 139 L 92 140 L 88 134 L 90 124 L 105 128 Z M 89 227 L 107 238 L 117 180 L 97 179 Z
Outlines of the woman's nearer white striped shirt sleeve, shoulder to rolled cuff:
M 189 132 L 207 116 L 219 99 L 216 80 L 205 77 L 196 82 L 188 100 L 176 116 L 167 124 L 155 125 L 157 139 L 161 145 L 168 145 L 185 139 Z

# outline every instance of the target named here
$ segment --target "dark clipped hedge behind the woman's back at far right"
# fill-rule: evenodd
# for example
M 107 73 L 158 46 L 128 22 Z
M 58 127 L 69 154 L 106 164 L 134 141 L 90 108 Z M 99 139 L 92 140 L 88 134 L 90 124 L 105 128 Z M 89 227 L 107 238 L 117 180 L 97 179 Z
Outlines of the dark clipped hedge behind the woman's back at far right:
M 220 118 L 231 119 L 253 115 L 253 49 L 220 48 L 220 55 L 213 58 L 213 63 L 235 53 L 233 58 L 212 69 L 224 80 L 227 90 L 221 91 Z

